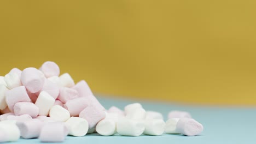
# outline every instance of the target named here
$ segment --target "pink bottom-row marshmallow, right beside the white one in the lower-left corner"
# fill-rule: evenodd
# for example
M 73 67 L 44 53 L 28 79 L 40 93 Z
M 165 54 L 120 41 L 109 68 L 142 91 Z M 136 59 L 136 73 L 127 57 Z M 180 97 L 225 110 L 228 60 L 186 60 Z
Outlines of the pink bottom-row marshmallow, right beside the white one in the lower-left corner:
M 20 129 L 21 137 L 24 139 L 32 139 L 39 136 L 43 122 L 35 118 L 29 121 L 17 122 L 16 125 Z

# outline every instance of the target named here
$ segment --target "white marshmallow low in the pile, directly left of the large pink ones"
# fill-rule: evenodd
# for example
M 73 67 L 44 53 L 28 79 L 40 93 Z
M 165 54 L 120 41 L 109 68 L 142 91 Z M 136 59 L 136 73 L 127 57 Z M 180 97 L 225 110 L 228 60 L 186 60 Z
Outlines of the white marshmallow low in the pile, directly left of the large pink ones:
M 50 118 L 53 118 L 55 121 L 61 122 L 65 122 L 70 118 L 70 113 L 68 112 L 68 110 L 60 105 L 55 105 L 51 107 L 49 115 Z

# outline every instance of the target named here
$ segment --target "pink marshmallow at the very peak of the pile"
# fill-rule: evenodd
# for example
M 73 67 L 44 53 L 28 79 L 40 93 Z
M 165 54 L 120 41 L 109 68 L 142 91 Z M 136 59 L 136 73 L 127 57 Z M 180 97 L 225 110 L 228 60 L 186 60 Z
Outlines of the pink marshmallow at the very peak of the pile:
M 60 68 L 55 62 L 44 62 L 39 70 L 41 70 L 47 78 L 60 75 Z

